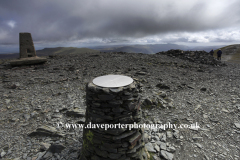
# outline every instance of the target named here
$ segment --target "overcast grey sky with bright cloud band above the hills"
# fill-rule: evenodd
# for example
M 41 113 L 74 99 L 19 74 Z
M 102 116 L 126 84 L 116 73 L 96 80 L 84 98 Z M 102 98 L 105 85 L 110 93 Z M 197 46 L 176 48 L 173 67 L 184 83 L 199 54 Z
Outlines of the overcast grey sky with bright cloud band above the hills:
M 18 48 L 19 32 L 36 48 L 236 44 L 240 0 L 1 0 L 0 49 Z

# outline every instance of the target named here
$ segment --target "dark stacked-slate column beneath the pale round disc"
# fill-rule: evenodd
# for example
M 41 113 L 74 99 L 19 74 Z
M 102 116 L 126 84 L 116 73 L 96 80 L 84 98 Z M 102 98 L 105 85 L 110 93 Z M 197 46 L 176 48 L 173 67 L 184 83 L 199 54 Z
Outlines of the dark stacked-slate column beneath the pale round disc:
M 142 111 L 135 82 L 119 88 L 86 86 L 85 127 L 92 124 L 141 123 Z M 147 160 L 141 128 L 84 128 L 81 160 Z

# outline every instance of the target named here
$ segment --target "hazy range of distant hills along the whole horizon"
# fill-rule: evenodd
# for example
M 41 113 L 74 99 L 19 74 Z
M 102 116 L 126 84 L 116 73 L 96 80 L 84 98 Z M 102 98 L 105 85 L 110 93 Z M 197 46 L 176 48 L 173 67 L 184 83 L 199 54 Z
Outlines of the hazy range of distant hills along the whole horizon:
M 170 49 L 180 50 L 204 50 L 209 52 L 211 49 L 218 49 L 223 46 L 198 46 L 189 47 L 177 44 L 148 44 L 148 45 L 112 45 L 112 46 L 96 46 L 90 48 L 76 48 L 76 47 L 57 47 L 57 48 L 44 48 L 37 50 L 37 56 L 49 56 L 52 54 L 75 54 L 75 53 L 97 53 L 97 52 L 128 52 L 128 53 L 145 53 L 154 54 L 161 51 L 168 51 Z M 0 54 L 0 59 L 13 59 L 19 58 L 19 53 Z

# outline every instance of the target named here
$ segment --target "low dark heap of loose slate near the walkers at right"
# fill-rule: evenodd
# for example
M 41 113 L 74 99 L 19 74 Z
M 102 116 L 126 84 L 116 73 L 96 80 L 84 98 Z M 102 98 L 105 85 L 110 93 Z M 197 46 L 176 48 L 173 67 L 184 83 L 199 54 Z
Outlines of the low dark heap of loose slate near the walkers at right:
M 188 60 L 190 62 L 207 64 L 207 65 L 225 65 L 221 61 L 216 60 L 210 53 L 206 51 L 182 51 L 171 49 L 169 51 L 163 51 L 156 54 L 165 54 L 170 57 L 178 57 L 180 59 Z

